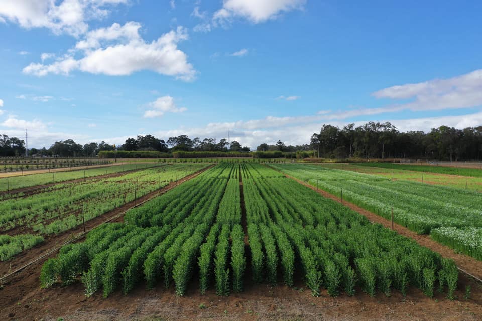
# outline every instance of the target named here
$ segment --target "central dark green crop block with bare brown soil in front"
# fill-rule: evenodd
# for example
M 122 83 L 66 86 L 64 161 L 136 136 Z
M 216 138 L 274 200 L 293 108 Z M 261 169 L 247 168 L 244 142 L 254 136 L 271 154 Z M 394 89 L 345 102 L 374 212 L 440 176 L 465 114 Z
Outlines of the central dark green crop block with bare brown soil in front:
M 0 291 L 0 314 L 66 320 L 153 313 L 161 319 L 482 315 L 479 287 L 452 260 L 256 163 L 221 162 L 24 273 L 29 277 L 19 274 Z M 472 299 L 457 301 L 466 285 Z

